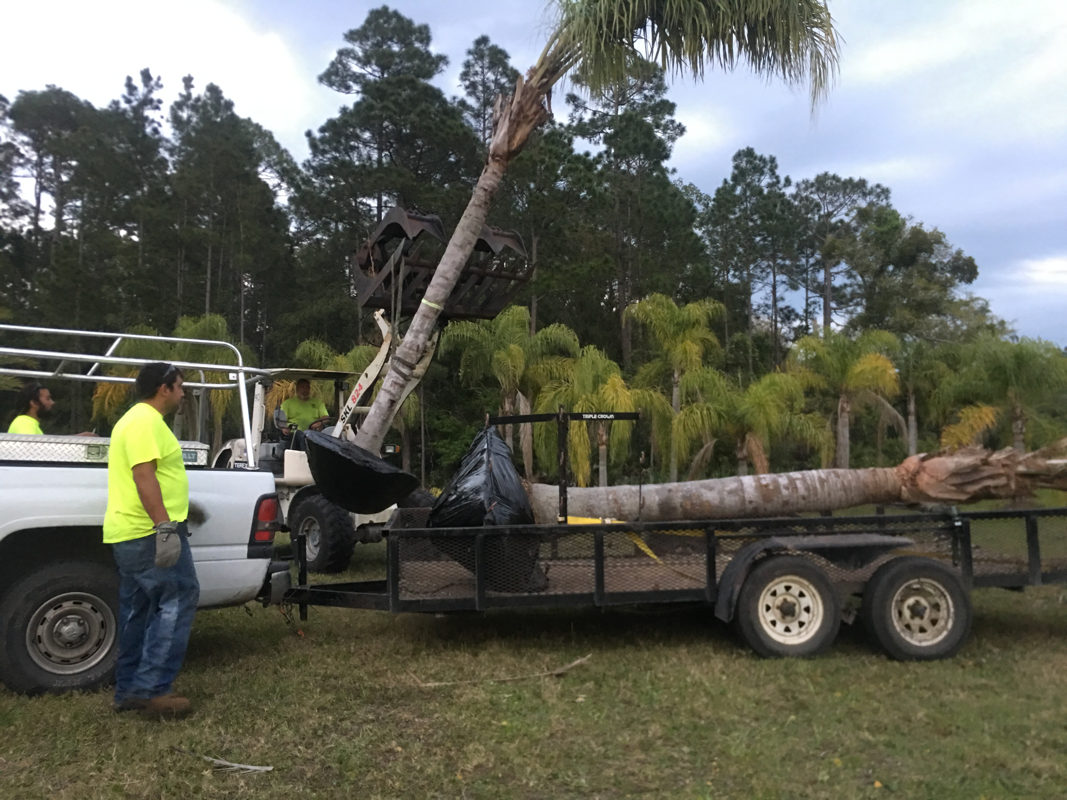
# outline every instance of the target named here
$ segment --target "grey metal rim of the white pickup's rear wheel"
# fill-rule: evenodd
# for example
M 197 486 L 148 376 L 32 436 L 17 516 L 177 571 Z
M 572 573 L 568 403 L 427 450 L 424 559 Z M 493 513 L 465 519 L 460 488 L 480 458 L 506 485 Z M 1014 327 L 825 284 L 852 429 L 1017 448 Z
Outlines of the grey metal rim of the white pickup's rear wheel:
M 66 592 L 43 603 L 26 628 L 33 662 L 54 675 L 74 675 L 102 661 L 115 642 L 111 608 L 86 592 Z

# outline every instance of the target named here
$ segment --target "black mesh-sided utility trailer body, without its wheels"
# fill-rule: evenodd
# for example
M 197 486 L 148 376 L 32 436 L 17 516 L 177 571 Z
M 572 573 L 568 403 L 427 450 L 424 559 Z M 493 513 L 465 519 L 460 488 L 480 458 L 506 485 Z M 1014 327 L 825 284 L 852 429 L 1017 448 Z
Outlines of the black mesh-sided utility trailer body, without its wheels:
M 715 604 L 738 554 L 795 551 L 851 593 L 881 564 L 920 556 L 968 588 L 1067 581 L 1067 509 L 857 517 L 428 528 L 427 509 L 391 521 L 385 580 L 312 585 L 298 604 L 391 611 Z

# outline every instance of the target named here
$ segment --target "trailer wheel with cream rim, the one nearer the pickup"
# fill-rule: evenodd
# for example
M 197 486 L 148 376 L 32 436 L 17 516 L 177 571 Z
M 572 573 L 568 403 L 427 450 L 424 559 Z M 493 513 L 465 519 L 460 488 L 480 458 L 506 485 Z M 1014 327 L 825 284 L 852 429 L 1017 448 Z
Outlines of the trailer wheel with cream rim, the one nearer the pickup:
M 814 656 L 838 636 L 841 608 L 823 570 L 800 556 L 773 556 L 745 579 L 736 624 L 761 656 Z

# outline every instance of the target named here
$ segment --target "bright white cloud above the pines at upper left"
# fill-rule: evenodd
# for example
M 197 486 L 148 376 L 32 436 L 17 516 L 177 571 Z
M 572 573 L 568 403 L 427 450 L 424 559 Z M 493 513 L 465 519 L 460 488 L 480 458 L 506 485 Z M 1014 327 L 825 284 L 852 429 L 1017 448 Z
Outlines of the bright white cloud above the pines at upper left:
M 43 20 L 45 7 L 62 23 Z M 181 91 L 182 76 L 192 74 L 197 90 L 219 84 L 237 113 L 290 148 L 302 148 L 303 131 L 337 105 L 282 34 L 255 27 L 224 0 L 9 3 L 4 29 L 0 93 L 9 99 L 54 83 L 102 106 L 122 94 L 125 76 L 136 79 L 148 67 L 162 77 L 169 102 Z

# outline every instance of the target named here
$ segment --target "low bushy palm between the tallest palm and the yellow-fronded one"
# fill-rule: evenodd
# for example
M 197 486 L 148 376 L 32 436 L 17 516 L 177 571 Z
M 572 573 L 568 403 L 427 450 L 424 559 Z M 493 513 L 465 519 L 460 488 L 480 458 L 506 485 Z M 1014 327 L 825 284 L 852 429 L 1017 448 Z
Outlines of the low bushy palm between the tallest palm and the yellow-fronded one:
M 694 370 L 682 379 L 684 405 L 671 430 L 674 451 L 687 460 L 688 480 L 699 478 L 714 454 L 719 438 L 734 447 L 737 475 L 748 475 L 749 463 L 758 475 L 770 471 L 767 453 L 779 439 L 801 442 L 829 461 L 832 436 L 826 420 L 805 412 L 805 381 L 800 374 L 771 372 L 743 388 L 712 367 Z

